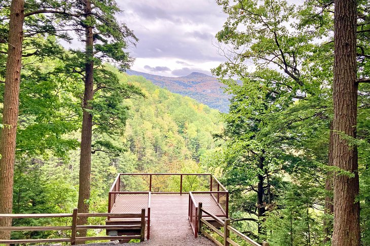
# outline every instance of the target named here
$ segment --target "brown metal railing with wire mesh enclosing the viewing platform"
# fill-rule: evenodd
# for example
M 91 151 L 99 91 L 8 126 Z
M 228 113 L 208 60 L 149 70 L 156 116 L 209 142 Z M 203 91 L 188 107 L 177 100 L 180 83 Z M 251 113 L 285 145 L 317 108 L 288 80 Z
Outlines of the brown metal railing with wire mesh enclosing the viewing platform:
M 206 204 L 208 209 L 215 212 L 217 216 L 228 218 L 229 214 L 229 191 L 212 174 L 198 173 L 121 173 L 109 191 L 108 212 L 119 209 L 130 211 L 134 208 L 147 208 L 146 218 L 148 220 L 147 238 L 150 238 L 150 200 L 151 194 L 185 194 L 189 193 L 189 221 L 197 236 L 198 229 L 198 203 Z M 116 203 L 118 195 L 135 196 L 136 204 L 123 205 Z M 145 202 L 143 195 L 147 195 Z

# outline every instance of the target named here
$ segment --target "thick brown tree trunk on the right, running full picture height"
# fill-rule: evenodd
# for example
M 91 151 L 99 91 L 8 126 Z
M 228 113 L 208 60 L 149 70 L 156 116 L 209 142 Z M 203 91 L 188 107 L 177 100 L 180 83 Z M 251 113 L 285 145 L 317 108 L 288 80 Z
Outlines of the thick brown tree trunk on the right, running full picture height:
M 356 137 L 356 1 L 335 0 L 334 27 L 334 165 L 354 175 L 334 176 L 333 246 L 359 246 L 357 147 L 345 136 Z

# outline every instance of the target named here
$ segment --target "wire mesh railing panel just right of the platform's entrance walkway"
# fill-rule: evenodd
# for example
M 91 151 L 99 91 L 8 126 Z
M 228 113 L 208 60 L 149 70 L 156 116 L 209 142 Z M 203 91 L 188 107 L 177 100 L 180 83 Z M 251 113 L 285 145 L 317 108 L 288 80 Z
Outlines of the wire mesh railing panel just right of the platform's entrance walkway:
M 227 193 L 193 193 L 196 204 L 202 203 L 202 208 L 210 214 L 216 216 L 226 216 L 226 206 L 219 202 L 227 200 Z M 207 216 L 207 215 L 204 215 Z

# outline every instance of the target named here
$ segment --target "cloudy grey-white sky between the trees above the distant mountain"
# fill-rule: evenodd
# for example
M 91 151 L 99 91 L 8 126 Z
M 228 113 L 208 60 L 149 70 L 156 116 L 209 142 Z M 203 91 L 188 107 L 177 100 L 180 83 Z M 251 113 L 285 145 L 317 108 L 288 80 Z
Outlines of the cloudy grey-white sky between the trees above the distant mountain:
M 210 75 L 224 61 L 215 34 L 227 16 L 215 0 L 118 0 L 118 16 L 140 39 L 132 70 L 163 76 Z

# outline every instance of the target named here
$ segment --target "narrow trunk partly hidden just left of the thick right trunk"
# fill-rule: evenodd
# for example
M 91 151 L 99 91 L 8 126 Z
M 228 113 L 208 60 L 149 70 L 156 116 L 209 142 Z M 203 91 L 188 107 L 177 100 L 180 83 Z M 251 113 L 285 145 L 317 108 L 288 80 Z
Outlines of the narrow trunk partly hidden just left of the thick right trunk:
M 333 123 L 330 123 L 330 133 L 329 133 L 329 153 L 328 153 L 328 163 L 327 165 L 331 167 L 333 165 L 333 144 L 334 144 L 334 131 L 333 131 Z M 326 182 L 325 182 L 325 218 L 324 218 L 324 240 L 323 243 L 330 242 L 331 235 L 332 235 L 332 221 L 328 219 L 334 213 L 334 206 L 333 206 L 333 198 L 332 198 L 332 189 L 333 186 L 333 172 L 328 171 L 326 173 Z

